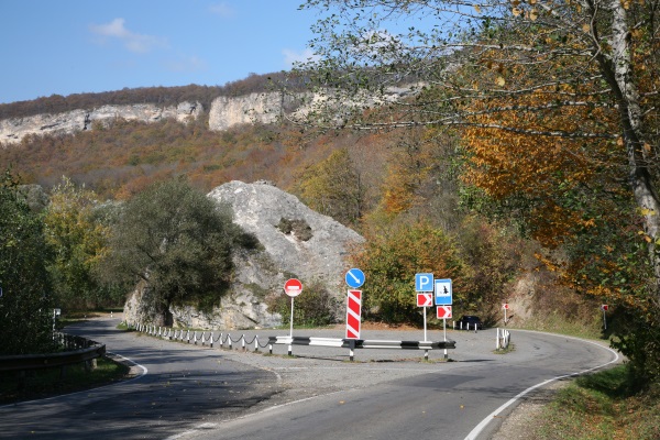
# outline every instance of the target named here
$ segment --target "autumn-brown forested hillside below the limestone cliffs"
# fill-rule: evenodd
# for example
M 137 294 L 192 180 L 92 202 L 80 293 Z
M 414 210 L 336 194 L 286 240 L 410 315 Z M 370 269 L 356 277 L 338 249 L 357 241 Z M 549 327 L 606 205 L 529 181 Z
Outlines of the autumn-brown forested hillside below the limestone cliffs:
M 239 81 L 240 90 L 264 90 L 265 81 L 248 78 Z M 185 90 L 152 92 L 176 101 Z M 63 182 L 84 185 L 99 200 L 131 200 L 151 184 L 178 176 L 202 193 L 230 180 L 270 180 L 367 238 L 352 262 L 374 274 L 374 294 L 365 302 L 371 319 L 419 320 L 408 295 L 408 274 L 419 271 L 454 279 L 457 314 L 479 312 L 494 322 L 502 318 L 501 304 L 524 292 L 525 302 L 512 312 L 520 323 L 534 319 L 539 305 L 570 310 L 578 326 L 597 319 L 595 304 L 576 299 L 540 270 L 532 257 L 538 245 L 519 239 L 515 224 L 493 223 L 463 208 L 470 193 L 460 178 L 464 157 L 455 135 L 428 129 L 320 131 L 285 122 L 218 132 L 207 121 L 208 114 L 187 123 L 118 119 L 76 134 L 28 136 L 0 151 L 0 167 L 57 194 Z M 562 300 L 547 300 L 548 292 L 561 292 Z

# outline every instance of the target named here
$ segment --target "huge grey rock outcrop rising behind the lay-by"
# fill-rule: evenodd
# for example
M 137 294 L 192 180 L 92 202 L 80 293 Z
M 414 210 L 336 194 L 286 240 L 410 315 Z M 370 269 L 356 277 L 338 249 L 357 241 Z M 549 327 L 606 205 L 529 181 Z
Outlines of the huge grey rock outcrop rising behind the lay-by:
M 304 283 L 320 280 L 338 298 L 343 298 L 345 256 L 352 245 L 363 242 L 360 234 L 312 211 L 295 196 L 268 183 L 230 182 L 209 193 L 218 202 L 229 204 L 234 222 L 256 235 L 263 251 L 240 253 L 231 294 L 220 307 L 202 314 L 193 307 L 173 308 L 179 326 L 204 329 L 274 327 L 282 317 L 271 314 L 265 299 L 282 293 L 289 277 Z M 143 293 L 136 289 L 124 307 L 129 322 L 156 322 L 141 306 Z

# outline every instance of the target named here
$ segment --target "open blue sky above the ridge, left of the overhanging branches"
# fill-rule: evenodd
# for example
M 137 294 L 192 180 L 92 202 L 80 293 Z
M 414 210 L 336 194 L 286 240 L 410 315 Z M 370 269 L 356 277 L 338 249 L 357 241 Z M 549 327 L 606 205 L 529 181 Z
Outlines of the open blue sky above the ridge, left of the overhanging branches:
M 0 103 L 222 86 L 311 54 L 304 0 L 0 0 Z

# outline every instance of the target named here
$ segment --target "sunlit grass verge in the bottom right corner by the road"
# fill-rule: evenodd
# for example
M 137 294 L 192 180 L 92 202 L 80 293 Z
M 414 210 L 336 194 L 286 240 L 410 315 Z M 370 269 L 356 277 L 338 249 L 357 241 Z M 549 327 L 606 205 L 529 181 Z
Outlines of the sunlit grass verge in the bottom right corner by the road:
M 660 386 L 635 389 L 619 365 L 576 378 L 536 421 L 535 439 L 660 439 Z

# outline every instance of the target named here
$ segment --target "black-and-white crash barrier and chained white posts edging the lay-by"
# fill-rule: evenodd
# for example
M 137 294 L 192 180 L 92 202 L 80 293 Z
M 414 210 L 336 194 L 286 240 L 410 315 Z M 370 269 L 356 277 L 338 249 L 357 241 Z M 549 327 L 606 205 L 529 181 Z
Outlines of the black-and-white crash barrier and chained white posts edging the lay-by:
M 362 339 L 339 339 L 339 338 L 307 338 L 307 337 L 267 337 L 267 341 L 260 342 L 258 336 L 252 337 L 251 340 L 245 338 L 245 334 L 241 334 L 240 338 L 232 338 L 230 333 L 220 333 L 217 338 L 215 332 L 210 331 L 196 331 L 187 329 L 172 329 L 162 328 L 156 326 L 145 326 L 142 323 L 127 324 L 130 329 L 150 334 L 156 338 L 163 338 L 174 341 L 187 342 L 193 344 L 208 345 L 210 348 L 218 346 L 224 348 L 227 343 L 228 349 L 233 349 L 234 343 L 240 343 L 243 351 L 248 350 L 248 346 L 254 345 L 254 351 L 258 351 L 260 348 L 268 348 L 268 353 L 273 353 L 274 344 L 288 344 L 288 354 L 292 354 L 292 345 L 316 345 L 316 346 L 336 346 L 350 350 L 350 359 L 353 361 L 353 351 L 355 349 L 399 349 L 399 350 L 424 350 L 425 358 L 428 359 L 429 350 L 438 349 L 455 349 L 455 341 L 385 341 L 385 340 L 362 340 Z M 198 334 L 200 333 L 200 334 Z M 219 344 L 217 344 L 219 342 Z

